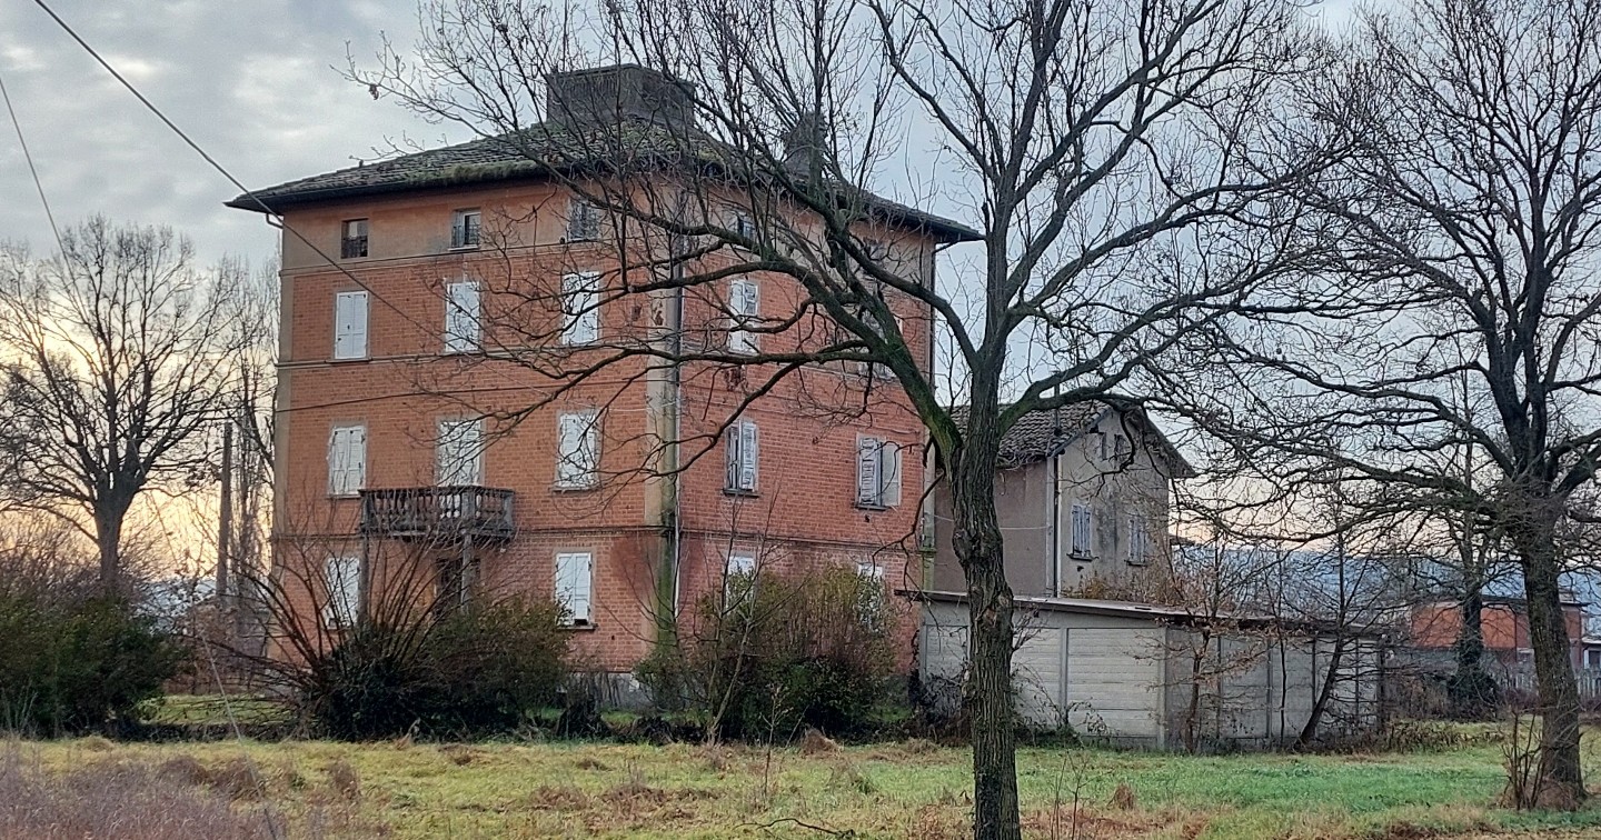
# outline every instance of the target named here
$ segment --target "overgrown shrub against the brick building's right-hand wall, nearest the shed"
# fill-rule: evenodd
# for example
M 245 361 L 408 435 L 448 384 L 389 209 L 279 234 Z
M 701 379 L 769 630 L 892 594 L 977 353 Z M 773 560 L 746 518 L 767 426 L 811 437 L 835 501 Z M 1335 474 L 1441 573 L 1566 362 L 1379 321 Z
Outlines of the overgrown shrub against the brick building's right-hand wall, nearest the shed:
M 853 570 L 730 581 L 637 675 L 719 736 L 850 734 L 890 699 L 900 616 L 881 581 Z

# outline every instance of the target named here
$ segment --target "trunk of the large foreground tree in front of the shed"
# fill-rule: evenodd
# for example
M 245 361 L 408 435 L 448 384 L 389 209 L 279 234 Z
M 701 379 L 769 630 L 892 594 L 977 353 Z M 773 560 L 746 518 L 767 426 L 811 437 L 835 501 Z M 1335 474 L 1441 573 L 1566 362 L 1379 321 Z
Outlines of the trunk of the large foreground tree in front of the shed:
M 989 406 L 985 411 L 985 406 Z M 973 837 L 1021 837 L 1017 798 L 1017 733 L 1012 704 L 1012 586 L 1005 579 L 996 517 L 994 402 L 973 403 L 967 446 L 946 477 L 956 517 L 956 557 L 967 573 L 970 610 L 967 715 L 973 742 Z

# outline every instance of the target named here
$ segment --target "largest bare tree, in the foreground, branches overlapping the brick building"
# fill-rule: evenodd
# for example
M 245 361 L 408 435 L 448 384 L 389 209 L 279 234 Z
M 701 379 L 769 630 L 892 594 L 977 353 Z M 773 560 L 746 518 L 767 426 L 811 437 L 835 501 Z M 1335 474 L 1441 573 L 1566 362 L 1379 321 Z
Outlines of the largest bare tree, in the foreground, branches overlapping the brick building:
M 532 402 L 668 368 L 743 371 L 744 402 L 788 387 L 823 410 L 871 411 L 874 389 L 905 395 L 949 485 L 970 598 L 973 832 L 1018 837 L 1001 437 L 1029 411 L 1132 389 L 1270 270 L 1257 202 L 1298 163 L 1249 152 L 1278 149 L 1263 117 L 1310 64 L 1297 6 L 623 0 L 586 16 L 439 0 L 423 6 L 415 54 L 386 51 L 352 77 L 519 149 L 527 171 L 588 198 L 618 232 L 624 269 L 584 307 L 666 314 L 573 354 L 562 330 L 578 314 L 528 315 L 565 310 L 560 290 L 496 288 L 522 302 L 487 302 L 484 317 L 498 307 L 520 328 L 487 328 L 498 338 L 485 355 L 549 374 Z M 546 77 L 612 61 L 680 80 L 687 107 L 573 131 L 567 104 L 546 102 Z M 914 186 L 885 189 L 897 171 Z M 897 246 L 917 216 L 865 189 L 961 208 L 965 261 L 937 285 L 932 250 Z M 751 272 L 796 293 L 759 310 L 730 299 L 730 278 Z M 677 320 L 685 306 L 717 318 Z M 949 365 L 930 363 L 930 342 Z M 823 366 L 868 371 L 869 386 L 820 392 L 810 371 Z M 969 406 L 962 419 L 953 403 Z M 666 448 L 688 442 L 656 434 Z M 647 469 L 682 469 L 688 456 L 671 451 Z

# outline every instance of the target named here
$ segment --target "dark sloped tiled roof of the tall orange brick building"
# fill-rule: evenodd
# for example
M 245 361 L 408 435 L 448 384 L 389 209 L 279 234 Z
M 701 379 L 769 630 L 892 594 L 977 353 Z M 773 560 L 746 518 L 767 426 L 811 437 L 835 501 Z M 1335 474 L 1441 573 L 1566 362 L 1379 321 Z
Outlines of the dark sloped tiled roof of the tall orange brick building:
M 479 138 L 456 146 L 287 181 L 242 194 L 226 205 L 256 213 L 279 213 L 291 206 L 415 189 L 544 178 L 552 171 L 607 165 L 608 160 L 618 157 L 626 157 L 634 165 L 692 162 L 733 170 L 735 166 L 727 166 L 736 160 L 733 155 L 736 155 L 733 149 L 708 134 L 671 133 L 645 120 L 623 120 L 607 128 L 589 130 L 541 123 L 517 133 Z M 860 202 L 873 216 L 881 216 L 892 224 L 929 230 L 945 242 L 981 238 L 977 230 L 961 222 L 924 213 L 855 186 L 842 184 L 836 192 L 842 205 Z

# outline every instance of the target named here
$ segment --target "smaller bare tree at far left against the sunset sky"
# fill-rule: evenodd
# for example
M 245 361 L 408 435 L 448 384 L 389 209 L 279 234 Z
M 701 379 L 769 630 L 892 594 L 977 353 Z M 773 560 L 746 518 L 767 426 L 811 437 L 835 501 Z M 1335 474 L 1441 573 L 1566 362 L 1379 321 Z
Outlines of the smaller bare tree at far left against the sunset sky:
M 210 480 L 207 432 L 235 384 L 239 278 L 170 229 L 69 229 L 54 259 L 0 253 L 0 494 L 94 539 L 118 587 L 134 499 Z

